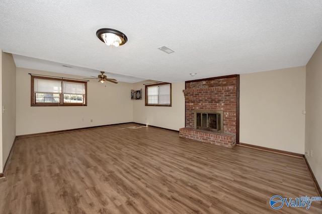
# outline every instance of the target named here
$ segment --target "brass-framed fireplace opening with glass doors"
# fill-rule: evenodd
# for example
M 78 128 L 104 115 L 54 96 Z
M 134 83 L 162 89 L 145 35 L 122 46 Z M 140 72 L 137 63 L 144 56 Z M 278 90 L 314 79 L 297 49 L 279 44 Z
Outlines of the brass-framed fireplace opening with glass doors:
M 195 129 L 223 132 L 223 111 L 195 110 Z

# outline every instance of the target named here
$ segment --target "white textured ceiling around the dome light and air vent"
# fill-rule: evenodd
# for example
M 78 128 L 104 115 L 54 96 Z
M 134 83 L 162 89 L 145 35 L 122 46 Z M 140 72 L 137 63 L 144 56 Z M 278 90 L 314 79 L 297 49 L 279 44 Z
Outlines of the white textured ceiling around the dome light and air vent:
M 131 76 L 125 82 L 303 66 L 322 40 L 322 1 L 311 0 L 2 0 L 0 19 L 0 49 L 15 54 L 16 63 L 16 55 L 26 56 L 17 66 L 48 63 L 42 70 L 49 70 L 56 62 L 57 70 L 74 66 L 70 74 L 79 67 L 80 76 L 101 70 Z M 96 37 L 101 28 L 123 32 L 128 42 L 106 46 Z

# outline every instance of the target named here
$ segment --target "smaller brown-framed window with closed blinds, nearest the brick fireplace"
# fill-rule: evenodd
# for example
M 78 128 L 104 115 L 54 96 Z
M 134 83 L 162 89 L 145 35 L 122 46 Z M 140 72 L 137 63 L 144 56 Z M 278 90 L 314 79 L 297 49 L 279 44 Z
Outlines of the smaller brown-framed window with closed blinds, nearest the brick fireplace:
M 145 106 L 171 106 L 171 83 L 145 85 Z

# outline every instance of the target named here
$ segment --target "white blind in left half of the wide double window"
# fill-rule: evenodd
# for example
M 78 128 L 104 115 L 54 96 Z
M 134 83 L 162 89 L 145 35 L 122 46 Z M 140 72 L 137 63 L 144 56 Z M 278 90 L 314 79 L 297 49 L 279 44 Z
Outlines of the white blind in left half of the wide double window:
M 34 92 L 61 93 L 61 81 L 34 79 Z

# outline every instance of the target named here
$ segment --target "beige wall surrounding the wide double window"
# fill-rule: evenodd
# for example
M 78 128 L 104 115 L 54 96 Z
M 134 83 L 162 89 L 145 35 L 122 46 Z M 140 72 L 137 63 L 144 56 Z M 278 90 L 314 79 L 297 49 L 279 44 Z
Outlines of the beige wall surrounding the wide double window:
M 31 81 L 28 73 L 84 78 L 17 68 L 17 135 L 133 121 L 130 83 L 101 84 L 96 80 L 90 81 L 88 106 L 31 107 Z

